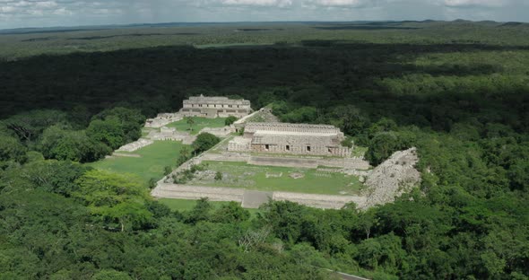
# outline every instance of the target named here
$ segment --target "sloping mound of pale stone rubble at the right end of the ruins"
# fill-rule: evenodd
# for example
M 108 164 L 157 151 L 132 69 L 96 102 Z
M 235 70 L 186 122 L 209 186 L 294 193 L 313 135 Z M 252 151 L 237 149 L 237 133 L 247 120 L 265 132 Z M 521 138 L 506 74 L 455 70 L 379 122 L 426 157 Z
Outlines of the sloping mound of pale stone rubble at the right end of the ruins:
M 404 192 L 421 182 L 421 173 L 415 169 L 419 162 L 417 149 L 394 153 L 386 162 L 377 166 L 366 179 L 364 195 L 366 204 L 362 208 L 383 205 L 395 201 Z

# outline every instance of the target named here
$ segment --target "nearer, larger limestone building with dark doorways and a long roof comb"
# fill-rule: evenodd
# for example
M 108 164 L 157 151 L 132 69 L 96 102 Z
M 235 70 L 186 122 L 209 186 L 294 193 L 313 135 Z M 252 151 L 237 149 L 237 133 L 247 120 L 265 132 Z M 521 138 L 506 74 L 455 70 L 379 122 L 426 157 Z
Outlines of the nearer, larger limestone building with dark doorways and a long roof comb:
M 344 138 L 339 128 L 328 125 L 248 123 L 244 136 L 231 140 L 228 150 L 345 157 L 351 149 L 342 146 Z

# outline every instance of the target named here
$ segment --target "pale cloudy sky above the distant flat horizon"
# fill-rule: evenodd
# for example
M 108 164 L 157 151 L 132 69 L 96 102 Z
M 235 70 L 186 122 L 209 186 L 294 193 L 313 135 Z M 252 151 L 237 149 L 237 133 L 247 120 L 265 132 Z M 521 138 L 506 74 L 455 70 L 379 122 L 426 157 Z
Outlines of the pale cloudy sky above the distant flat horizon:
M 155 22 L 529 22 L 529 0 L 0 0 L 0 29 Z

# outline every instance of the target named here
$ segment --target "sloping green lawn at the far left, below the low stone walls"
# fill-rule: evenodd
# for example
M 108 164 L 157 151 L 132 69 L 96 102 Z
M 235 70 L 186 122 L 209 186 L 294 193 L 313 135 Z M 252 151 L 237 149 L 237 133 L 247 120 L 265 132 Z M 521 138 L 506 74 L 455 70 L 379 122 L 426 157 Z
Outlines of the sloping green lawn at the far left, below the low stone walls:
M 105 171 L 132 173 L 145 183 L 149 179 L 161 179 L 165 166 L 176 167 L 178 153 L 183 144 L 174 141 L 155 141 L 153 144 L 133 152 L 140 157 L 113 157 L 89 165 Z

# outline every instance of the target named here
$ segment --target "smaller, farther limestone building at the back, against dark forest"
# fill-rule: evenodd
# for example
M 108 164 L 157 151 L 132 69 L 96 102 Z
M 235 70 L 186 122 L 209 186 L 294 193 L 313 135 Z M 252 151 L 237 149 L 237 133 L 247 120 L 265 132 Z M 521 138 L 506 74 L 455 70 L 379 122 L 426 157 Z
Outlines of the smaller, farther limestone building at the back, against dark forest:
M 220 96 L 192 96 L 184 101 L 180 114 L 185 117 L 226 118 L 234 116 L 242 118 L 252 112 L 250 101 L 230 100 Z

